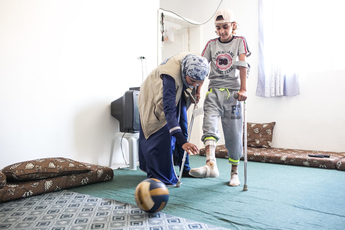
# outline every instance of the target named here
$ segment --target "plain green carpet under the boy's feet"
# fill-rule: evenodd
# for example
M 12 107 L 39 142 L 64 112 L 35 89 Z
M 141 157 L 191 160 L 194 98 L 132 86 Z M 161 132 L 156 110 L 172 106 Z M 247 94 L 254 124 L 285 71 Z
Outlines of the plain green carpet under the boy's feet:
M 192 168 L 205 157 L 190 156 Z M 182 178 L 180 188 L 169 187 L 169 202 L 162 212 L 228 229 L 344 229 L 345 172 L 262 162 L 247 163 L 248 191 L 228 186 L 230 164 L 217 158 L 218 178 Z M 178 170 L 178 169 L 177 169 Z M 134 191 L 146 179 L 140 170 L 116 169 L 114 180 L 70 191 L 136 204 Z

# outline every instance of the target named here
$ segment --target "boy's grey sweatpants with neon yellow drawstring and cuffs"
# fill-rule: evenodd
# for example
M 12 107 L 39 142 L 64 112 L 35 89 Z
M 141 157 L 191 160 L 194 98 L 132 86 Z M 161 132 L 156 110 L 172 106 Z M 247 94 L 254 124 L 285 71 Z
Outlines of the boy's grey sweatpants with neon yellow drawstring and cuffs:
M 207 139 L 220 139 L 218 121 L 221 118 L 225 148 L 228 150 L 229 163 L 238 164 L 243 155 L 243 109 L 242 102 L 234 99 L 238 90 L 211 88 L 204 102 L 203 136 Z M 206 139 L 205 139 L 206 138 Z

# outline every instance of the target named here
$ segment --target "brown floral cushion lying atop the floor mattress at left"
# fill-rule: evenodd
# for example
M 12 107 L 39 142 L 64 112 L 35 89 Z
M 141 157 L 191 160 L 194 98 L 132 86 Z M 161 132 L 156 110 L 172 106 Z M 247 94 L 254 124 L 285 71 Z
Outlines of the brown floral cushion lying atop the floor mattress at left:
M 58 157 L 23 161 L 9 165 L 0 172 L 6 175 L 7 181 L 31 181 L 88 171 L 90 169 L 81 162 Z

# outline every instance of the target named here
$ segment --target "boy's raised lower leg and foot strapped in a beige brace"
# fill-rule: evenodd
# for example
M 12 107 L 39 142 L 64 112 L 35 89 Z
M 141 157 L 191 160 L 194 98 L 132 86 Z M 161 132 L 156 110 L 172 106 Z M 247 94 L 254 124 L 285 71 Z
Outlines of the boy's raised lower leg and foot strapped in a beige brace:
M 215 157 L 215 142 L 215 140 L 208 140 L 205 142 L 205 147 L 207 147 L 207 145 L 209 146 L 209 148 L 206 148 L 206 165 L 199 168 L 191 169 L 189 171 L 189 175 L 199 178 L 216 178 L 219 176 Z

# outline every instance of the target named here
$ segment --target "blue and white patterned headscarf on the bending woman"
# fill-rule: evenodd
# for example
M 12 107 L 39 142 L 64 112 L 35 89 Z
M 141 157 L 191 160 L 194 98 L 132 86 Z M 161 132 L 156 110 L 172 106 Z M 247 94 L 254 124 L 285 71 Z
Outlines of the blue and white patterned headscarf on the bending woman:
M 205 80 L 209 70 L 210 67 L 207 59 L 199 55 L 187 54 L 187 56 L 181 60 L 182 81 L 186 86 L 188 86 L 186 82 L 187 75 L 196 80 Z

